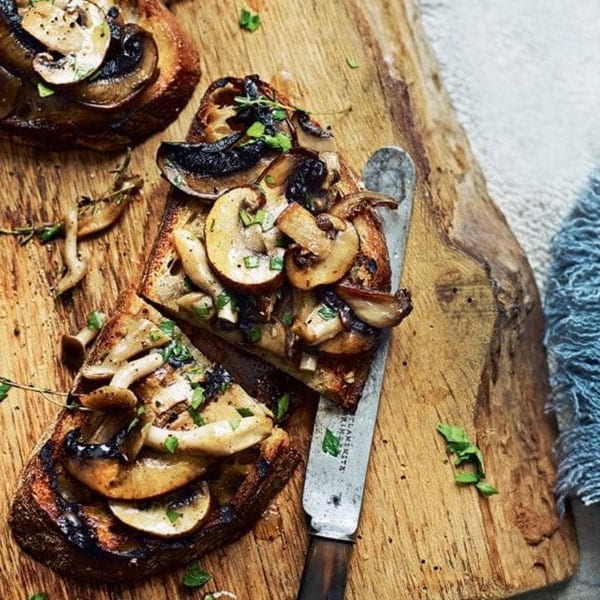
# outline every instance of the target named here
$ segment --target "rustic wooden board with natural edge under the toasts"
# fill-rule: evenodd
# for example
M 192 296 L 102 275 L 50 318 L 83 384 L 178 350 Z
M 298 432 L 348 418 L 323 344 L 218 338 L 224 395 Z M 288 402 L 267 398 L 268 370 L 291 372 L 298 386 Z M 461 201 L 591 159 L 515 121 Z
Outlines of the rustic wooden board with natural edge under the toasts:
M 135 149 L 132 170 L 144 177 L 144 193 L 116 228 L 82 244 L 92 269 L 72 296 L 54 300 L 50 292 L 60 242 L 19 246 L 0 236 L 0 374 L 68 388 L 72 373 L 58 358 L 60 335 L 77 330 L 90 310 L 110 310 L 118 291 L 139 281 L 167 192 L 154 164 L 159 140 L 183 139 L 214 78 L 259 73 L 329 123 L 357 170 L 379 146 L 398 144 L 418 171 L 403 274 L 415 309 L 393 335 L 347 598 L 506 598 L 568 578 L 577 546 L 552 494 L 555 428 L 544 414 L 540 299 L 487 195 L 411 0 L 247 6 L 262 18 L 255 33 L 238 28 L 238 3 L 174 6 L 201 48 L 200 87 L 176 123 Z M 0 153 L 2 227 L 57 220 L 78 196 L 102 191 L 122 159 L 9 144 Z M 0 406 L 0 597 L 188 597 L 183 568 L 128 586 L 88 586 L 57 577 L 14 544 L 6 527 L 11 494 L 57 410 L 16 389 Z M 313 412 L 307 404 L 291 424 L 303 453 Z M 477 442 L 498 495 L 455 485 L 455 467 L 436 433 L 440 422 L 464 427 Z M 307 544 L 302 481 L 300 468 L 252 533 L 200 561 L 213 579 L 189 597 L 219 590 L 240 600 L 295 597 Z

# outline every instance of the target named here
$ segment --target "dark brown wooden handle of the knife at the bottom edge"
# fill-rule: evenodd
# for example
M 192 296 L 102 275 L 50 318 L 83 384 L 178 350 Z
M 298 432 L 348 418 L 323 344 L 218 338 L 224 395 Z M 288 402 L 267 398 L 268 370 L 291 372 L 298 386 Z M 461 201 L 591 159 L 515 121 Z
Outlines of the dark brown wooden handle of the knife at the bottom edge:
M 311 536 L 298 600 L 343 600 L 351 542 Z

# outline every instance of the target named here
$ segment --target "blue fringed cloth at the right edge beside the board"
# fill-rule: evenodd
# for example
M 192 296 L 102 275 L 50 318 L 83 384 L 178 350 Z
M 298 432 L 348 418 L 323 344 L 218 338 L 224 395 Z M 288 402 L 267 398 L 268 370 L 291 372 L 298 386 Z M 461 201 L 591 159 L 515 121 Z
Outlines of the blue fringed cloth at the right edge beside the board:
M 544 311 L 564 513 L 569 497 L 600 501 L 600 170 L 553 239 Z

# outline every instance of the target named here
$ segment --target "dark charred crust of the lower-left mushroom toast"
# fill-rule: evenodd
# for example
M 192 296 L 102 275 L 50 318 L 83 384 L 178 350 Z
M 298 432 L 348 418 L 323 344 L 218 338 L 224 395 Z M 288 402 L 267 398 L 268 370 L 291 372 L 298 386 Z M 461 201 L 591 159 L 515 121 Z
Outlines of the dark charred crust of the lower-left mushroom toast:
M 132 293 L 121 298 L 116 313 L 119 318 L 102 331 L 86 364 L 107 351 L 123 317 L 157 314 Z M 25 466 L 9 513 L 12 534 L 28 554 L 77 579 L 129 581 L 186 564 L 232 542 L 257 522 L 300 461 L 287 434 L 275 428 L 255 449 L 233 495 L 211 510 L 198 531 L 177 539 L 158 538 L 120 523 L 106 500 L 65 468 L 65 438 L 89 414 L 65 409 L 58 415 Z

